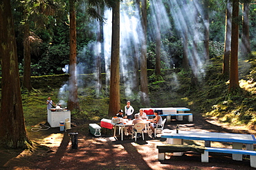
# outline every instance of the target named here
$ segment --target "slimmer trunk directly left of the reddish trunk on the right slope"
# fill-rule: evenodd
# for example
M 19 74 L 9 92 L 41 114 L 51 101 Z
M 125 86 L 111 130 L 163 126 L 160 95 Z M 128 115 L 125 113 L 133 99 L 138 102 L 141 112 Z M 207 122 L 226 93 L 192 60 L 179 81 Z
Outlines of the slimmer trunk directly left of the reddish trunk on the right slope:
M 223 56 L 222 74 L 229 75 L 230 51 L 231 51 L 231 22 L 232 22 L 232 6 L 230 1 L 226 5 L 226 30 L 225 44 Z

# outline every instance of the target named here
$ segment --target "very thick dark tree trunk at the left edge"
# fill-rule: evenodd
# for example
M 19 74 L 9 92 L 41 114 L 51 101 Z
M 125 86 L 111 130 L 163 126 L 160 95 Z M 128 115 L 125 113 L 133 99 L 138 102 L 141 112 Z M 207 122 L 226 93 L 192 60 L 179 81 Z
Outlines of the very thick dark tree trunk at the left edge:
M 2 0 L 0 5 L 0 146 L 25 148 L 29 140 L 21 102 L 17 45 L 10 0 Z

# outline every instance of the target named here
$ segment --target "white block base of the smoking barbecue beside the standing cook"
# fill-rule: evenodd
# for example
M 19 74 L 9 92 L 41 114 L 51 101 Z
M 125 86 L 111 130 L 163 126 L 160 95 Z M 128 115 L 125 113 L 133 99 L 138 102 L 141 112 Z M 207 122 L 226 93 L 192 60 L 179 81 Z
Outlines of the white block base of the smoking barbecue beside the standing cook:
M 65 122 L 66 118 L 71 120 L 71 111 L 51 111 L 48 109 L 47 121 L 51 127 L 60 127 L 60 122 Z

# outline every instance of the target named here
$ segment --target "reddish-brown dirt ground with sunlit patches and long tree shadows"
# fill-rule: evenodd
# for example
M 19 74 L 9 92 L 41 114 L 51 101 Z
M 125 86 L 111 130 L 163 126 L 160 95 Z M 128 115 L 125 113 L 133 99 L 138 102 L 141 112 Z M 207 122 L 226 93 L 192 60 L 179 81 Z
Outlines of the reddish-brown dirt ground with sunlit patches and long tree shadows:
M 0 169 L 253 169 L 248 156 L 243 161 L 235 161 L 231 155 L 219 153 L 210 153 L 208 163 L 202 163 L 201 155 L 192 152 L 183 156 L 170 153 L 166 160 L 158 161 L 156 145 L 165 143 L 160 136 L 152 139 L 146 134 L 144 141 L 139 138 L 135 143 L 131 136 L 125 136 L 121 141 L 119 135 L 117 139 L 113 138 L 111 130 L 102 129 L 102 136 L 95 137 L 88 131 L 89 122 L 73 122 L 77 126 L 66 132 L 60 132 L 59 128 L 29 131 L 30 140 L 36 142 L 33 152 L 1 149 Z M 165 124 L 165 129 L 174 129 L 176 124 L 181 130 L 255 134 L 245 126 L 220 125 L 213 120 L 205 120 L 201 115 L 194 115 L 192 123 L 185 118 L 182 122 L 173 120 Z M 71 132 L 78 133 L 77 149 L 72 149 L 68 136 Z M 197 141 L 192 144 L 203 143 Z M 214 145 L 230 147 L 230 144 L 218 142 Z

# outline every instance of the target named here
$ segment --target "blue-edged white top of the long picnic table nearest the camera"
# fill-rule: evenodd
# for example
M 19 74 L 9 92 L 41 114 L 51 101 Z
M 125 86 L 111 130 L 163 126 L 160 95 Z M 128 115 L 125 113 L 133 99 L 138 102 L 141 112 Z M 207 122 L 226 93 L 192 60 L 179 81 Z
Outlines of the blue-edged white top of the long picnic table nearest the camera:
M 254 135 L 239 133 L 212 133 L 202 131 L 179 131 L 179 133 L 174 133 L 174 131 L 172 131 L 172 133 L 163 133 L 161 135 L 161 138 L 256 144 L 256 139 Z

